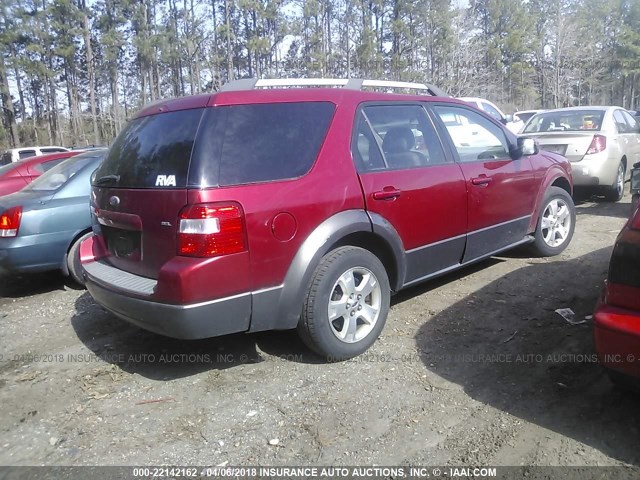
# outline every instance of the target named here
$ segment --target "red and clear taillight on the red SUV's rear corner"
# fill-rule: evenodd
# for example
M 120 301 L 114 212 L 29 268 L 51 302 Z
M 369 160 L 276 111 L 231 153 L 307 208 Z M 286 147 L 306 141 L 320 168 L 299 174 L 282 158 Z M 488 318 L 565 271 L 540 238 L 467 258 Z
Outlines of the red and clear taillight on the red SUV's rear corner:
M 178 225 L 178 255 L 216 257 L 246 250 L 239 205 L 205 203 L 185 207 Z

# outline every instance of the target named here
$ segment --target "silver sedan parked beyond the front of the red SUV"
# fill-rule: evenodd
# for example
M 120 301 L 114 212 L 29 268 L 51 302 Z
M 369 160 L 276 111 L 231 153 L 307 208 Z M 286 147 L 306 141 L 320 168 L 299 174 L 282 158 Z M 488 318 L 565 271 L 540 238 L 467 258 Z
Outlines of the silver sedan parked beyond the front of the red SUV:
M 564 155 L 576 187 L 601 190 L 617 202 L 631 166 L 640 161 L 640 125 L 619 107 L 568 107 L 539 113 L 521 133 L 540 148 Z

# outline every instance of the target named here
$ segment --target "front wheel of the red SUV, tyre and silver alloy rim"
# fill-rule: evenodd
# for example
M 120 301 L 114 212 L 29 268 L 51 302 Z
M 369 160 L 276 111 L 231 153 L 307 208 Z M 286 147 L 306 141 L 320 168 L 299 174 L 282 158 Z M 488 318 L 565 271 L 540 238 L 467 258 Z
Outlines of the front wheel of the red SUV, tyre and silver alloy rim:
M 549 187 L 542 205 L 533 249 L 540 256 L 552 257 L 571 242 L 576 227 L 576 209 L 571 196 L 559 187 Z

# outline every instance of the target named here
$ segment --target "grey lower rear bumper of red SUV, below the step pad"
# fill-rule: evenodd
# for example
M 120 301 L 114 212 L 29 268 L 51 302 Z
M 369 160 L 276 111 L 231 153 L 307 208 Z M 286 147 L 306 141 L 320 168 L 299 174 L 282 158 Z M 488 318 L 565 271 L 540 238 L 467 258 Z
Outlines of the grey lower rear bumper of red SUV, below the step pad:
M 85 266 L 86 267 L 86 266 Z M 121 319 L 167 337 L 195 340 L 249 329 L 251 294 L 174 305 L 119 290 L 85 268 L 86 287 L 97 303 Z

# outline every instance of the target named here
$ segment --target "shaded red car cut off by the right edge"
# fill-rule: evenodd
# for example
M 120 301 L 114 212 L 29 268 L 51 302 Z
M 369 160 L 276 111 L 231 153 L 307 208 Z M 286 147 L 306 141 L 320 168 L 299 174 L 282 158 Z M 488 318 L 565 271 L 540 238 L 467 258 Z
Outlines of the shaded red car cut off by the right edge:
M 618 235 L 593 318 L 596 351 L 611 379 L 640 385 L 630 380 L 640 378 L 640 209 Z

